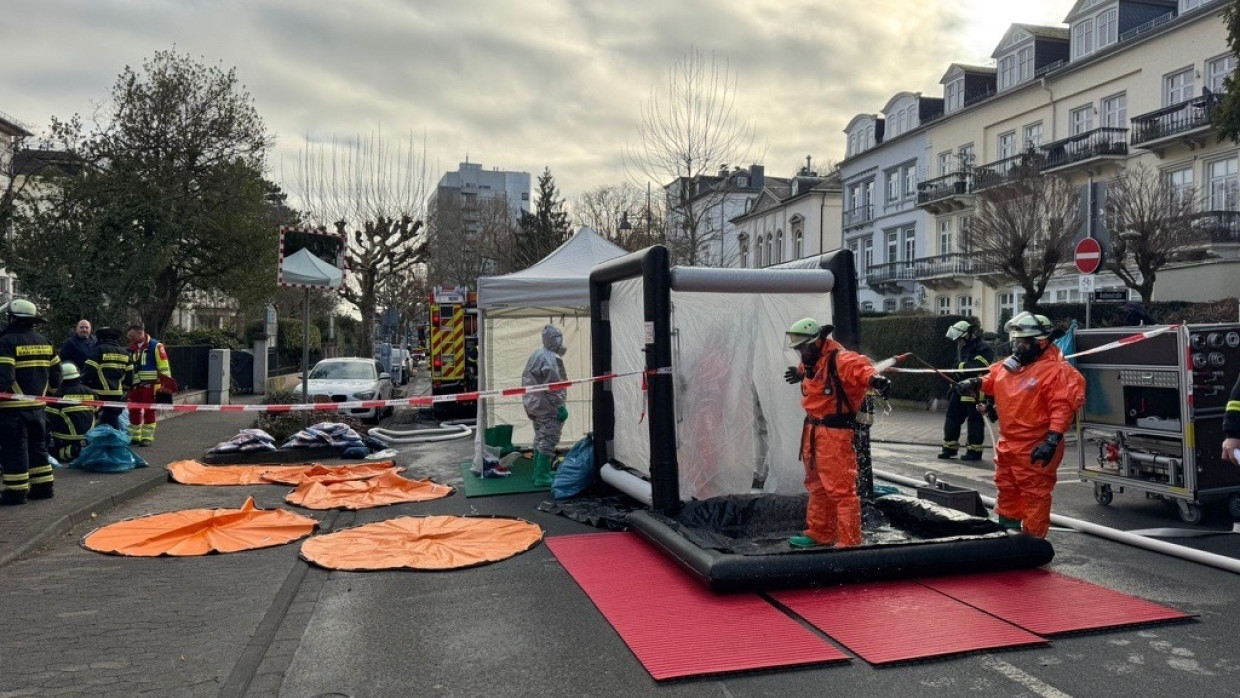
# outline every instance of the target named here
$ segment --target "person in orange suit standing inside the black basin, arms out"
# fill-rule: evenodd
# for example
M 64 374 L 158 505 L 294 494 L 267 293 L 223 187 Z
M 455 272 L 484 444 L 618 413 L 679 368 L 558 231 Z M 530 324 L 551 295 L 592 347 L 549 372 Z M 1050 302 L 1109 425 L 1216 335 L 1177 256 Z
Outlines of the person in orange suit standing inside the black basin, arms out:
M 874 389 L 885 398 L 892 391 L 892 382 L 879 376 L 868 358 L 832 340 L 832 331 L 835 326 L 812 317 L 797 320 L 787 330 L 789 347 L 800 352 L 801 363 L 789 366 L 784 379 L 801 384 L 805 426 L 800 453 L 810 492 L 807 527 L 789 539 L 794 548 L 862 543 L 853 429 L 866 392 Z

